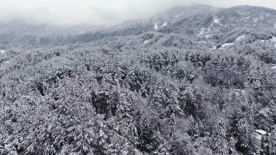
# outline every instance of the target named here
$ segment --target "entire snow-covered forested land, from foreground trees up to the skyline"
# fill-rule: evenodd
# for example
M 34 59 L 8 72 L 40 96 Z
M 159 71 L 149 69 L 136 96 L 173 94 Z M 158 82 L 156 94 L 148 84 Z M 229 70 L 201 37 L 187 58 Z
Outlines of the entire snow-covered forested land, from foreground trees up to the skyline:
M 0 22 L 0 154 L 276 154 L 276 10 Z

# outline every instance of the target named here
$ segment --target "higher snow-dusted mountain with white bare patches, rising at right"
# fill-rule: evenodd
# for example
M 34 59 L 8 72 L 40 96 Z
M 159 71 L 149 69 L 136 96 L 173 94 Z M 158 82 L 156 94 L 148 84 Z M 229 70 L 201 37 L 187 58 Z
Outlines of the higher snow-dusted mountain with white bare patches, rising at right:
M 249 16 L 250 15 L 250 16 Z M 66 40 L 64 43 L 85 43 L 113 36 L 137 35 L 149 31 L 162 33 L 182 33 L 191 36 L 208 36 L 215 46 L 227 42 L 223 35 L 226 32 L 260 31 L 266 38 L 273 36 L 275 10 L 241 6 L 229 9 L 209 6 L 174 8 L 146 20 L 123 22 L 104 31 L 82 34 Z M 265 28 L 265 29 L 262 29 Z M 242 33 L 242 32 L 237 32 Z M 260 34 L 260 35 L 261 35 Z M 227 36 L 230 34 L 226 34 Z M 259 35 L 259 34 L 258 34 Z M 223 40 L 221 42 L 221 39 Z

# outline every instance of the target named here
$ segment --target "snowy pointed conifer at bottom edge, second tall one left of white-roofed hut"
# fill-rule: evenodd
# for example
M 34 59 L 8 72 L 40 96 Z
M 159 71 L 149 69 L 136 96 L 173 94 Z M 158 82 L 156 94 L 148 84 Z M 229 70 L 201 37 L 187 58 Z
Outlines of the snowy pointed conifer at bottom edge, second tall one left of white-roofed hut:
M 214 127 L 212 133 L 212 139 L 214 141 L 213 152 L 215 154 L 226 154 L 227 141 L 224 120 L 221 118 Z

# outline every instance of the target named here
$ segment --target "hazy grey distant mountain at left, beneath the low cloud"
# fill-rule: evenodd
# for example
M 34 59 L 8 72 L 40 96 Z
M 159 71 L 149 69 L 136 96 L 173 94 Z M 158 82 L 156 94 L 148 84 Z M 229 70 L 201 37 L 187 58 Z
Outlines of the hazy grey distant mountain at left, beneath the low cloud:
M 100 28 L 100 26 L 91 25 L 62 27 L 49 24 L 32 24 L 15 19 L 8 23 L 0 23 L 0 44 L 27 47 L 56 45 L 66 38 L 93 32 Z

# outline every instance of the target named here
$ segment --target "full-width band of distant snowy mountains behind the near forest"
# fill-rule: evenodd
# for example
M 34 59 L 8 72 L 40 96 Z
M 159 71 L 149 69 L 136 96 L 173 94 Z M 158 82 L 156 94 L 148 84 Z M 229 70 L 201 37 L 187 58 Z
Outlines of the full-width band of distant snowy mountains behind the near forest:
M 236 39 L 255 42 L 275 37 L 275 19 L 275 10 L 268 8 L 238 6 L 222 9 L 195 5 L 173 8 L 149 19 L 129 20 L 109 28 L 98 25 L 58 27 L 12 20 L 0 23 L 0 44 L 44 47 L 160 32 L 186 34 L 207 42 L 212 48 L 220 48 L 224 44 L 234 43 Z

